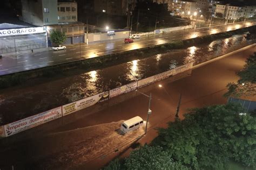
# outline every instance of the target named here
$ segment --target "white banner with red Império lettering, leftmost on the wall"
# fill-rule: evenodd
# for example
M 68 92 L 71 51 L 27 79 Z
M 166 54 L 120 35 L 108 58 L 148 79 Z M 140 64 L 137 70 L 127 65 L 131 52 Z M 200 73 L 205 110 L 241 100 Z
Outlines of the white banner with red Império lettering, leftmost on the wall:
M 52 121 L 62 117 L 62 107 L 51 109 L 49 111 L 42 112 L 34 116 L 30 116 L 19 121 L 4 125 L 5 136 L 11 136 L 12 134 L 33 128 L 43 123 Z

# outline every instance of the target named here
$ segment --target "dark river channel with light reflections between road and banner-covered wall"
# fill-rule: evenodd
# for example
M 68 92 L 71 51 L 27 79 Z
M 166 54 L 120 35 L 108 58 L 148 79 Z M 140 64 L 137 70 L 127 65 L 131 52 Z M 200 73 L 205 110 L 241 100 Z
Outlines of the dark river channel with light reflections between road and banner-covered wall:
M 165 72 L 185 63 L 194 62 L 197 65 L 254 42 L 255 40 L 246 40 L 244 35 L 236 35 L 87 73 L 58 77 L 51 81 L 33 80 L 19 87 L 3 89 L 0 90 L 0 125 Z

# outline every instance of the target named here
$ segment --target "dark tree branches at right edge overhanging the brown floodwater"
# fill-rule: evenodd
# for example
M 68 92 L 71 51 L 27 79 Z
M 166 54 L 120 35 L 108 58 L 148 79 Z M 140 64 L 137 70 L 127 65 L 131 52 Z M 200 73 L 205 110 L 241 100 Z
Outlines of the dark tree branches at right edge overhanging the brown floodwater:
M 246 60 L 244 68 L 237 73 L 240 79 L 237 83 L 228 83 L 226 97 L 255 96 L 256 95 L 256 52 Z

